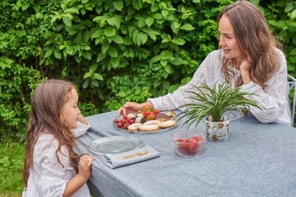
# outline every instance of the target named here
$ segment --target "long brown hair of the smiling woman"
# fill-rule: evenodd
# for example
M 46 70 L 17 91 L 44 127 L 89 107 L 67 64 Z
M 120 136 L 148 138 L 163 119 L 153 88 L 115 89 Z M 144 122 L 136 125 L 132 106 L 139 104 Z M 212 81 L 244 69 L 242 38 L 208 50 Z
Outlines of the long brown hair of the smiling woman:
M 247 54 L 251 60 L 251 80 L 263 88 L 264 84 L 279 69 L 279 54 L 276 48 L 282 50 L 282 46 L 269 32 L 267 22 L 260 10 L 247 0 L 236 1 L 227 5 L 218 16 L 218 24 L 222 15 L 229 18 L 235 34 L 236 42 L 244 57 Z M 229 82 L 234 76 L 231 69 L 234 59 L 222 59 L 222 74 Z M 235 87 L 243 85 L 242 76 L 238 77 Z

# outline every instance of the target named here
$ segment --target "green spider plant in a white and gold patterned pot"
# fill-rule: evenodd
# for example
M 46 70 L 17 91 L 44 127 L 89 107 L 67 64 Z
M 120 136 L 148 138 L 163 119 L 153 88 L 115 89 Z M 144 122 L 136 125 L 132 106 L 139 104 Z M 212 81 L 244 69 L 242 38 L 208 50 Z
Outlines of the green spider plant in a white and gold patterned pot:
M 258 102 L 245 98 L 246 95 L 255 95 L 248 92 L 241 92 L 241 88 L 232 88 L 230 84 L 214 84 L 210 88 L 206 84 L 196 87 L 196 92 L 186 91 L 192 94 L 187 97 L 197 100 L 198 103 L 188 103 L 180 107 L 188 106 L 182 113 L 179 120 L 186 117 L 187 120 L 182 125 L 189 128 L 193 123 L 195 127 L 205 118 L 207 138 L 210 141 L 225 141 L 229 133 L 229 117 L 223 116 L 228 110 L 250 111 L 250 106 L 261 109 Z M 205 90 L 205 91 L 203 91 Z M 262 109 L 261 109 L 262 110 Z M 178 121 L 179 121 L 178 120 Z

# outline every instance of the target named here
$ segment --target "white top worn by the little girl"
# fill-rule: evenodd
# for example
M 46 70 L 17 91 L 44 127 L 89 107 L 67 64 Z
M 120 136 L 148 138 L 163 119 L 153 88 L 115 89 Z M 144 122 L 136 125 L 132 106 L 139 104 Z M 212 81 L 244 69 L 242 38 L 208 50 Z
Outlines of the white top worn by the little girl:
M 72 130 L 78 137 L 90 128 L 90 126 L 77 122 L 77 128 Z M 62 197 L 67 182 L 76 172 L 70 159 L 58 152 L 60 162 L 56 157 L 58 141 L 52 134 L 40 133 L 34 146 L 33 166 L 30 170 L 27 190 L 23 191 L 23 197 Z M 69 156 L 68 150 L 62 146 L 61 151 Z M 89 189 L 85 183 L 72 197 L 90 197 Z

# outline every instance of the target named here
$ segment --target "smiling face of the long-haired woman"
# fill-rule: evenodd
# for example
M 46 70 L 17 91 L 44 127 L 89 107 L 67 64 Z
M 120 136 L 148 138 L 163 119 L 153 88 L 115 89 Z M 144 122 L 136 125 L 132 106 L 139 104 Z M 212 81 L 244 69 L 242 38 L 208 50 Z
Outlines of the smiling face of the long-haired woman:
M 243 56 L 240 49 L 238 48 L 234 36 L 234 29 L 227 16 L 222 15 L 219 22 L 218 31 L 220 33 L 219 46 L 223 49 L 224 57 L 226 59 L 234 58 L 236 64 L 240 64 L 243 60 Z

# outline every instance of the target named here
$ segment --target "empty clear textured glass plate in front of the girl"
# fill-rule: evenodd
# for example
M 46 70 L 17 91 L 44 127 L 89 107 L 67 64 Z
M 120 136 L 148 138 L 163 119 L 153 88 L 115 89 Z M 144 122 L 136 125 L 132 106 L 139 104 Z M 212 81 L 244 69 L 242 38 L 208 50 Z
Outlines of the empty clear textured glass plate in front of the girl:
M 129 152 L 143 146 L 142 140 L 131 136 L 102 137 L 92 141 L 88 149 L 97 154 L 117 154 Z

